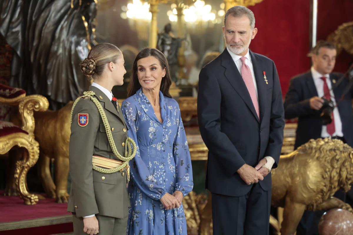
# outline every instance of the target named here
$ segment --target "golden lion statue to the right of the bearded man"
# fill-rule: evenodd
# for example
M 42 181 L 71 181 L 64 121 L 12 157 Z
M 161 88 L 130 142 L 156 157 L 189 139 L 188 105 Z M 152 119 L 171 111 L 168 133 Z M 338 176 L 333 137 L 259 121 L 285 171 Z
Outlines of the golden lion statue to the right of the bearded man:
M 353 212 L 351 206 L 332 197 L 341 187 L 350 189 L 353 182 L 353 149 L 341 140 L 318 138 L 280 158 L 272 171 L 271 204 L 281 206 L 281 235 L 294 234 L 304 210 L 341 208 Z

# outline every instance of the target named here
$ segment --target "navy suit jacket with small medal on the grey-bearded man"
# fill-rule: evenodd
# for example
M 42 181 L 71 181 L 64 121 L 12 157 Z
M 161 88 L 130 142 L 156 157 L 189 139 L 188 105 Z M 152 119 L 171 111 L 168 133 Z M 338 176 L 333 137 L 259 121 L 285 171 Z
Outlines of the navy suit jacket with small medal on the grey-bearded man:
M 206 187 L 212 193 L 242 196 L 250 191 L 237 173 L 245 163 L 255 167 L 265 156 L 281 154 L 284 128 L 282 93 L 275 64 L 250 56 L 258 90 L 260 121 L 241 74 L 227 49 L 202 68 L 197 97 L 198 121 L 208 153 Z M 268 84 L 264 80 L 266 73 Z M 271 190 L 269 173 L 260 185 Z

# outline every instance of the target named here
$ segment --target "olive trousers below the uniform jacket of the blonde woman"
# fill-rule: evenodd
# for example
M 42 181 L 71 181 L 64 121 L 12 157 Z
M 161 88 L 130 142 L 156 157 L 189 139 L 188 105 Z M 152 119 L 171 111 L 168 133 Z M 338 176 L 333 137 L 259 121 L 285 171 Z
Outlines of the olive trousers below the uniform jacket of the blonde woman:
M 127 218 L 114 218 L 110 216 L 96 215 L 99 226 L 99 235 L 125 235 L 127 228 Z M 73 234 L 87 235 L 84 231 L 83 217 L 76 217 L 76 213 L 72 213 Z

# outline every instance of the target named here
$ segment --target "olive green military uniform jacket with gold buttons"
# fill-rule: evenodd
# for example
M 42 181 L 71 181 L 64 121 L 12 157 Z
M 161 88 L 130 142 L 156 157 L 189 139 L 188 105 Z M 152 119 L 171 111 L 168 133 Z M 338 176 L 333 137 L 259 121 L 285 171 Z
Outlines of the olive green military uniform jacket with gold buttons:
M 118 152 L 124 156 L 127 127 L 120 106 L 116 110 L 108 97 L 98 88 L 89 87 L 106 113 Z M 85 126 L 78 124 L 78 114 L 88 114 Z M 124 144 L 123 144 L 124 143 Z M 126 190 L 126 173 L 104 174 L 92 169 L 92 155 L 119 160 L 109 145 L 100 113 L 90 98 L 81 98 L 72 113 L 70 136 L 71 190 L 67 211 L 77 217 L 93 214 L 125 218 L 130 201 Z

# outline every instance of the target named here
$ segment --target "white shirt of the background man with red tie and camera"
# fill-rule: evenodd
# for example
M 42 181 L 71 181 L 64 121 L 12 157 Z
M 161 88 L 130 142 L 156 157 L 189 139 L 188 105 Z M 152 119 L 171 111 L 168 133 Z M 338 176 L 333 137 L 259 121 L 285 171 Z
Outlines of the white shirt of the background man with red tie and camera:
M 315 83 L 316 91 L 317 91 L 317 96 L 322 98 L 324 96 L 324 81 L 321 79 L 321 77 L 326 78 L 326 83 L 330 91 L 330 97 L 331 100 L 333 101 L 333 104 L 336 106 L 336 100 L 335 100 L 335 95 L 333 93 L 333 90 L 331 90 L 331 80 L 330 80 L 330 74 L 325 74 L 322 75 L 319 72 L 317 72 L 313 67 L 311 67 L 311 75 Z M 340 113 L 338 111 L 338 107 L 335 107 L 333 110 L 333 117 L 335 120 L 335 133 L 332 136 L 340 136 L 343 137 L 343 132 L 342 132 L 342 122 L 341 122 L 341 117 Z M 327 132 L 327 126 L 322 125 L 321 129 L 321 137 L 330 137 L 330 134 Z

